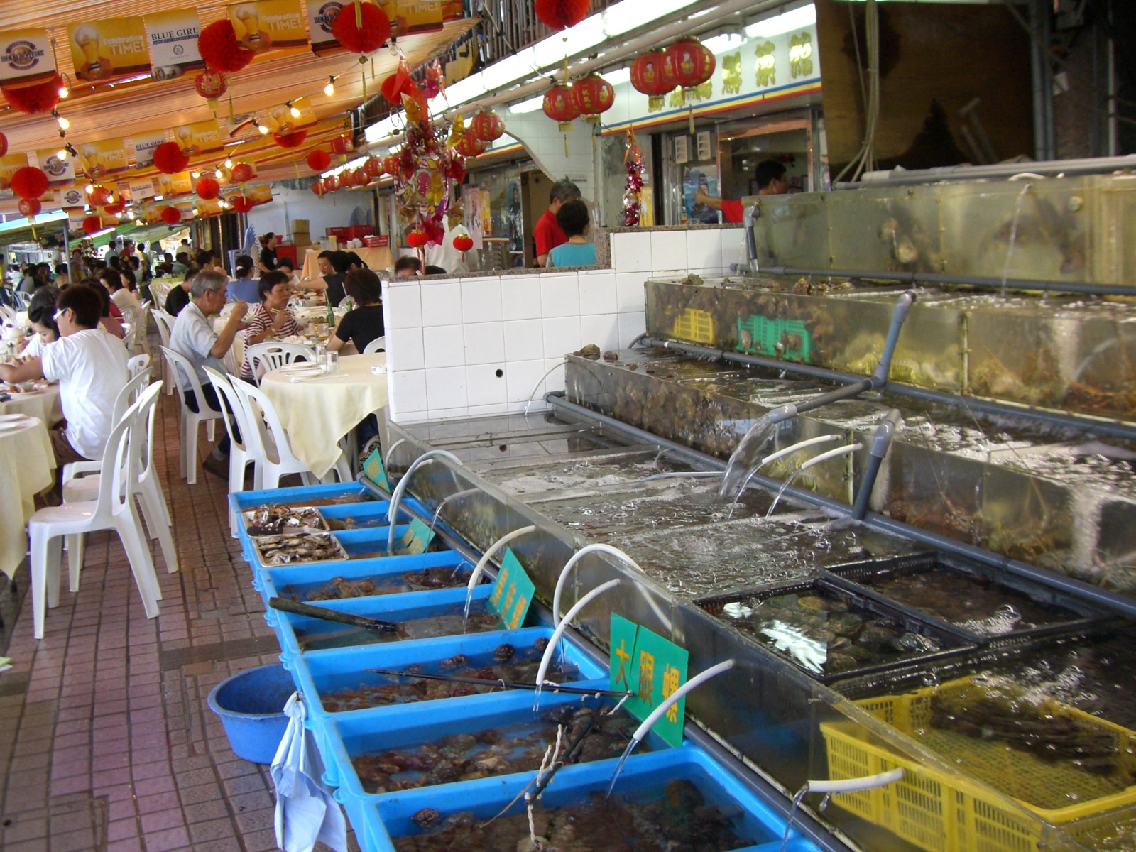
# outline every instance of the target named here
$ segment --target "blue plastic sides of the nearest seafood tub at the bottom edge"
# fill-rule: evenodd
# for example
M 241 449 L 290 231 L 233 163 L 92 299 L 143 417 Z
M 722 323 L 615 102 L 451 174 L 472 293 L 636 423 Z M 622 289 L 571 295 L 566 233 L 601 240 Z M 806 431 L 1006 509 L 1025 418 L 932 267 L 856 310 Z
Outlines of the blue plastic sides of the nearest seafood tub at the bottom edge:
M 591 793 L 603 793 L 615 765 L 615 760 L 603 760 L 565 767 L 552 778 L 542 801 L 546 807 L 556 808 L 582 802 Z M 521 792 L 531 776 L 519 774 L 451 784 L 445 787 L 444 796 L 438 795 L 440 787 L 424 787 L 375 796 L 368 802 L 356 800 L 345 807 L 365 852 L 392 852 L 391 837 L 421 833 L 410 818 L 423 808 L 433 808 L 443 818 L 471 811 L 475 819 L 488 819 Z M 736 776 L 695 746 L 633 755 L 624 765 L 616 793 L 642 801 L 660 799 L 667 785 L 679 779 L 698 787 L 708 804 L 724 809 L 734 804 L 741 807 L 742 812 L 732 820 L 732 825 L 738 836 L 752 841 L 752 845 L 743 850 L 780 850 L 785 820 Z M 335 792 L 335 797 L 341 801 L 349 799 L 342 790 Z M 519 803 L 508 813 L 523 812 L 524 803 Z M 818 849 L 794 829 L 790 833 L 785 852 L 818 852 Z

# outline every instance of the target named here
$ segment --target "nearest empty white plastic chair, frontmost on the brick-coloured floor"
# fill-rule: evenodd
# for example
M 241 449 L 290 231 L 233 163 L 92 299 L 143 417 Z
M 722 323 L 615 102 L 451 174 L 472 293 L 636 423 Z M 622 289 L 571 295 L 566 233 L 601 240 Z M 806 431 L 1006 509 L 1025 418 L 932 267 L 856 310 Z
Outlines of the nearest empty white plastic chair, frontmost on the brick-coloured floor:
M 142 521 L 134 508 L 134 484 L 137 460 L 131 452 L 130 433 L 137 427 L 141 411 L 153 407 L 160 385 L 148 390 L 139 403 L 131 406 L 110 431 L 105 451 L 106 463 L 99 473 L 98 495 L 92 501 L 65 503 L 40 509 L 27 524 L 32 554 L 32 612 L 35 638 L 43 638 L 43 621 L 48 607 L 59 605 L 59 569 L 62 561 L 64 536 L 83 535 L 99 529 L 114 529 L 134 574 L 147 618 L 158 615 L 161 591 L 153 570 L 153 560 L 142 534 Z M 73 562 L 72 582 L 77 584 L 80 563 Z

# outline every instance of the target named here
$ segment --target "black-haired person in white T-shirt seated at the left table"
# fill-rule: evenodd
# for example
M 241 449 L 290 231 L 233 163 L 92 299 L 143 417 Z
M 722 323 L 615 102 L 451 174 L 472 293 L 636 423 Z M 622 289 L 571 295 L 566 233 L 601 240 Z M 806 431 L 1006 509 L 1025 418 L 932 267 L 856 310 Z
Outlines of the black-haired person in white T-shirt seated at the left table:
M 59 382 L 65 425 L 51 429 L 56 457 L 56 498 L 64 465 L 102 458 L 115 424 L 115 399 L 130 378 L 122 341 L 99 328 L 102 302 L 91 287 L 70 286 L 59 293 L 55 318 L 59 340 L 43 345 L 43 354 L 19 365 L 0 365 L 0 378 Z

